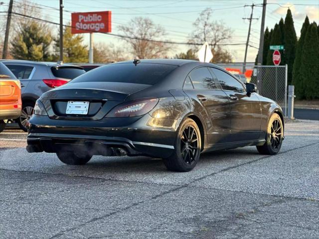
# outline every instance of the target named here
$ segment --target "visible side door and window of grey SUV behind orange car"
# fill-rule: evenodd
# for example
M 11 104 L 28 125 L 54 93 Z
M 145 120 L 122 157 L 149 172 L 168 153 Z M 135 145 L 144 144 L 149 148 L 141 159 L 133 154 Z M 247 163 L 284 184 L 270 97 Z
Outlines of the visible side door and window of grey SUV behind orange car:
M 16 64 L 10 64 L 5 63 L 5 66 L 9 68 L 9 70 L 13 73 L 13 75 L 20 80 L 21 82 L 21 94 L 23 94 L 27 88 L 27 85 L 30 82 L 30 79 L 32 78 L 32 75 L 34 73 L 34 67 L 33 66 L 27 66 L 27 65 L 16 65 Z

